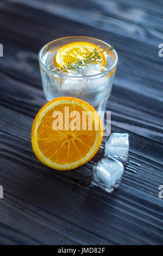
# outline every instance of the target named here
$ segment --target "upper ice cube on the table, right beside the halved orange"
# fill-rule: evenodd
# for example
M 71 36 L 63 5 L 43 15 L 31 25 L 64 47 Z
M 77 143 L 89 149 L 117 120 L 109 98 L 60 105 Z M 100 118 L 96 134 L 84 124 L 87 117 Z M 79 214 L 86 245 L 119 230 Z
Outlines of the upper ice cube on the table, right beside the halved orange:
M 129 149 L 128 133 L 111 133 L 105 143 L 105 156 L 127 159 Z

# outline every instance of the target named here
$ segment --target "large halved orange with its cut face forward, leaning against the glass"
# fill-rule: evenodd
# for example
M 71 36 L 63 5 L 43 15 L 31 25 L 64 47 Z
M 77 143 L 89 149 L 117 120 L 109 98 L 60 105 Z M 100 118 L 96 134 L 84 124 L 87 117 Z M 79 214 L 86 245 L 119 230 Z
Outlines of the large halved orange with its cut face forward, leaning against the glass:
M 58 97 L 37 113 L 31 138 L 34 153 L 42 163 L 54 169 L 70 170 L 96 154 L 102 136 L 102 122 L 89 103 Z

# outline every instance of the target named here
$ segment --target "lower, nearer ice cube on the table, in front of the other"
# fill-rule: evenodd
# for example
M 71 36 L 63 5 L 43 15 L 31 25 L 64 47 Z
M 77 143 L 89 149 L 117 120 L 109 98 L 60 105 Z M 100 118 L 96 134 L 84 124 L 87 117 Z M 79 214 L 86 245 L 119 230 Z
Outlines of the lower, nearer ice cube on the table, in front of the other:
M 92 185 L 112 192 L 120 184 L 124 172 L 123 164 L 113 157 L 106 157 L 93 166 Z

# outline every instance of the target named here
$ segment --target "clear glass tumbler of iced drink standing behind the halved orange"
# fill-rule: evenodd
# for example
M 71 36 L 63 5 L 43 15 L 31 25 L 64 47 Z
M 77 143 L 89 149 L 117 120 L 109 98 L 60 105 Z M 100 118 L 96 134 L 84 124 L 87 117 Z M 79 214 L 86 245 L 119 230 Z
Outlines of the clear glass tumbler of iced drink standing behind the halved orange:
M 104 71 L 95 74 L 93 70 L 90 70 L 89 75 L 84 76 L 54 71 L 53 59 L 58 49 L 71 42 L 81 41 L 90 42 L 106 50 L 107 62 Z M 60 96 L 77 97 L 90 103 L 99 114 L 105 111 L 118 59 L 116 51 L 109 50 L 109 48 L 110 45 L 106 42 L 86 36 L 60 38 L 43 46 L 39 52 L 39 63 L 46 99 L 49 101 Z

